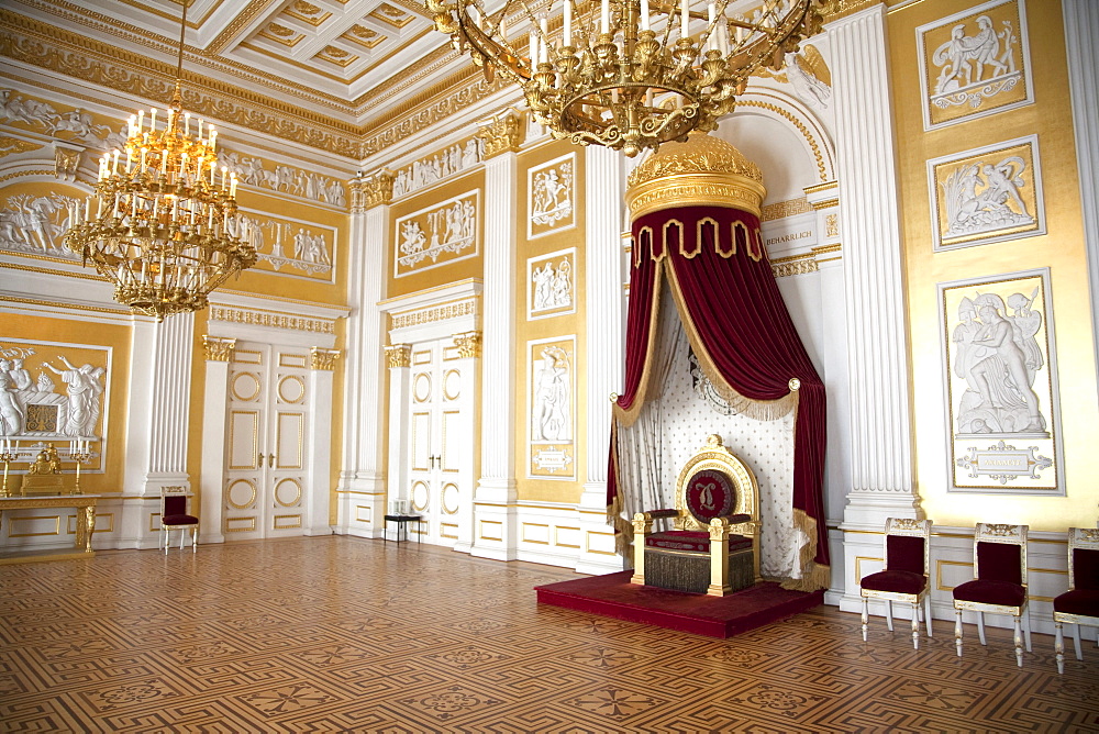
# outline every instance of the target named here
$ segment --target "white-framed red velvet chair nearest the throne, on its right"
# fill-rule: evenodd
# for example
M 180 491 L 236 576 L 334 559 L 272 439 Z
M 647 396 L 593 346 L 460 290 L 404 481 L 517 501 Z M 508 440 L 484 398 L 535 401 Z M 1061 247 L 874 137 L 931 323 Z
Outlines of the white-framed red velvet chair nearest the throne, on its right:
M 870 599 L 886 602 L 886 624 L 892 632 L 892 603 L 912 604 L 912 646 L 920 649 L 920 616 L 931 635 L 930 578 L 931 521 L 889 518 L 886 521 L 885 568 L 858 582 L 863 597 L 863 642 L 866 642 Z M 924 609 L 920 609 L 920 603 Z

